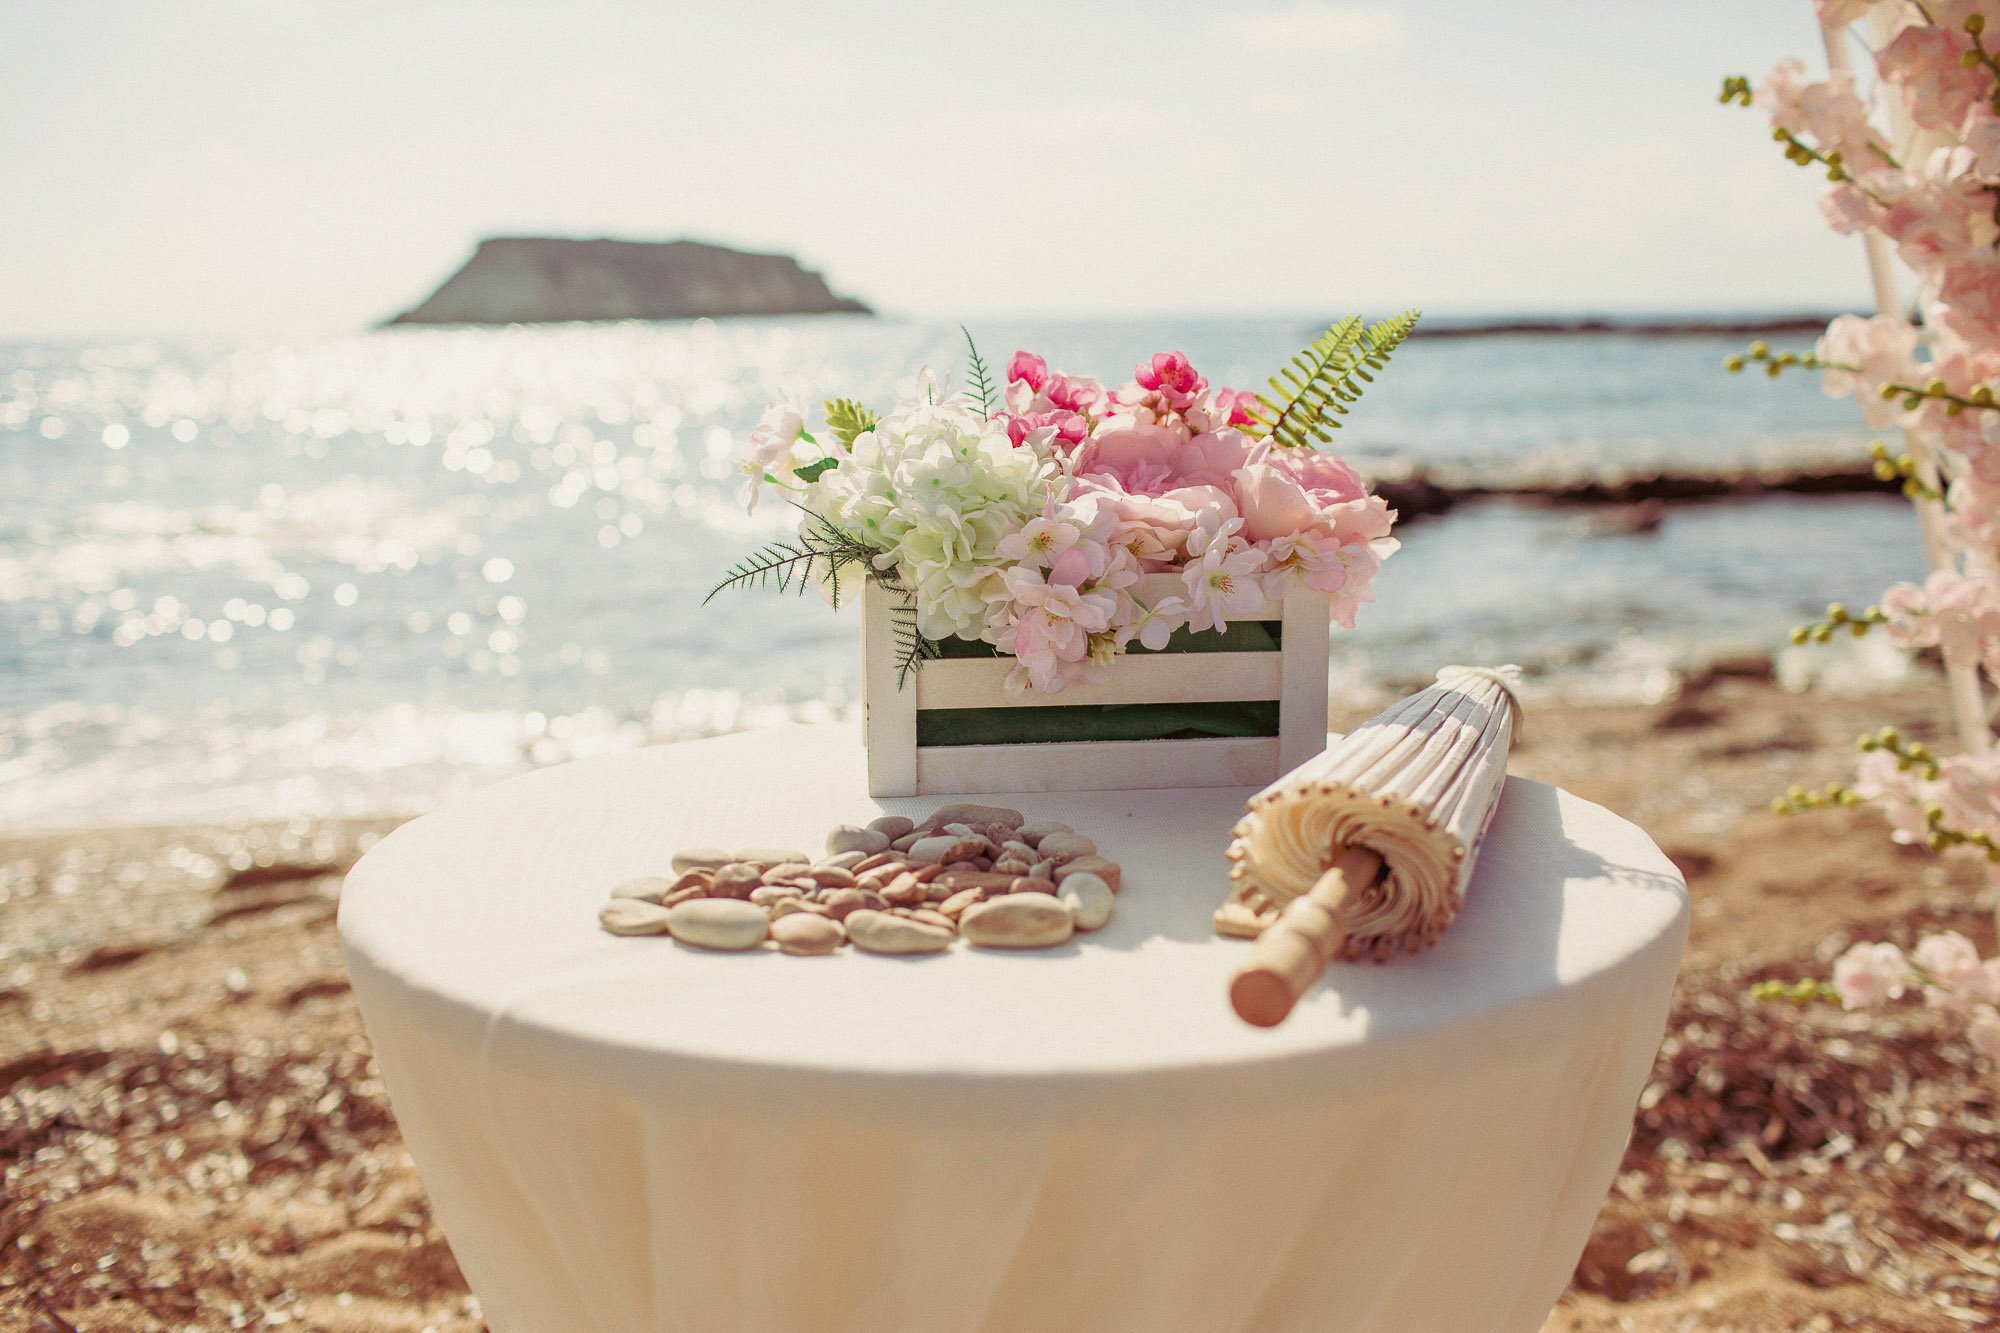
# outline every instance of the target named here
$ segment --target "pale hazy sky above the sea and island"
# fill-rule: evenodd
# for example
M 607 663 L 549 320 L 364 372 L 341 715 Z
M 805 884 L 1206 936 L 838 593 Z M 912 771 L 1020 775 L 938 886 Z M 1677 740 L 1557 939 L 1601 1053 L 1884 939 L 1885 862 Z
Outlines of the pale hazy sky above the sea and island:
M 1828 306 L 1808 0 L 0 2 L 0 336 L 358 328 L 484 234 L 932 316 Z

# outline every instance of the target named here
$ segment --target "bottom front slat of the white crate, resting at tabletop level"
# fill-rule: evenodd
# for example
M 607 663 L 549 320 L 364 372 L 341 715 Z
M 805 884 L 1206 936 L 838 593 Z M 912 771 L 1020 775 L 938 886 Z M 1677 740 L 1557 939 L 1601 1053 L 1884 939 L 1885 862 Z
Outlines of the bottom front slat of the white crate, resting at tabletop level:
M 1324 727 L 1320 731 L 1324 745 Z M 916 751 L 916 795 L 1258 787 L 1276 777 L 1278 737 L 926 745 Z

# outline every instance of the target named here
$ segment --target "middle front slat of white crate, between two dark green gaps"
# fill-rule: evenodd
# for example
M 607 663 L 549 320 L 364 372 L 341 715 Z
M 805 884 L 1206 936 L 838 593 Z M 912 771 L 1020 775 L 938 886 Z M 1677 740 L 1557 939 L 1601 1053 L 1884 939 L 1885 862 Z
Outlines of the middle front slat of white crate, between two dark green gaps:
M 1080 681 L 1060 695 L 1008 699 L 1002 689 L 1012 656 L 924 662 L 916 673 L 918 709 L 1066 707 L 1114 703 L 1234 703 L 1280 699 L 1282 652 L 1164 652 L 1118 658 L 1100 681 Z M 1324 662 L 1324 652 L 1322 652 Z M 1324 675 L 1324 666 L 1322 673 Z M 1324 705 L 1320 709 L 1324 713 Z M 1324 731 L 1324 727 L 1322 727 Z

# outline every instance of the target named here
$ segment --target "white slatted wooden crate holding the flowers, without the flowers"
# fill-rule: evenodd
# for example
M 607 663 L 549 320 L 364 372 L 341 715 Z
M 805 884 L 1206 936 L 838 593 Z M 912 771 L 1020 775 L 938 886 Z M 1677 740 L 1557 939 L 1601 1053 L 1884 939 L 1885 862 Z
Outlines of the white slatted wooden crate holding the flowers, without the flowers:
M 1138 596 L 1180 592 L 1174 574 L 1148 574 Z M 898 689 L 890 612 L 900 594 L 870 582 L 862 594 L 862 707 L 868 793 L 874 797 L 982 791 L 1116 791 L 1134 787 L 1260 787 L 1326 749 L 1328 598 L 1300 590 L 1242 620 L 1282 624 L 1266 652 L 1128 652 L 1102 679 L 1060 695 L 1012 699 L 1002 679 L 1014 658 L 934 658 Z M 1040 709 L 1132 703 L 1278 701 L 1276 737 L 1194 741 L 1050 741 L 1036 745 L 916 743 L 926 709 Z

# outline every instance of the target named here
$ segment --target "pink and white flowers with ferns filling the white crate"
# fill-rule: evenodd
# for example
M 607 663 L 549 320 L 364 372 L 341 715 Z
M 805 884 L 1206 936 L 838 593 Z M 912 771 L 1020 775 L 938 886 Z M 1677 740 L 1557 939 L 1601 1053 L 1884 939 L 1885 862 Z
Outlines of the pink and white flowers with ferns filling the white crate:
M 1416 326 L 1408 314 L 1334 322 L 1270 380 L 1272 394 L 1210 386 L 1180 352 L 1138 364 L 1122 388 L 1016 352 L 1006 382 L 970 348 L 968 388 L 928 370 L 884 416 L 848 398 L 826 430 L 780 402 L 744 450 L 746 502 L 778 488 L 800 534 L 716 586 L 874 578 L 906 594 L 904 671 L 940 640 L 1016 658 L 1010 693 L 1060 693 L 1128 650 L 1230 618 L 1304 584 L 1354 624 L 1394 514 L 1320 450 Z M 1176 590 L 1146 600 L 1144 574 Z M 1156 580 L 1158 582 L 1158 580 Z M 710 592 L 710 596 L 714 596 Z

